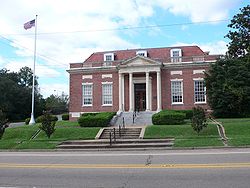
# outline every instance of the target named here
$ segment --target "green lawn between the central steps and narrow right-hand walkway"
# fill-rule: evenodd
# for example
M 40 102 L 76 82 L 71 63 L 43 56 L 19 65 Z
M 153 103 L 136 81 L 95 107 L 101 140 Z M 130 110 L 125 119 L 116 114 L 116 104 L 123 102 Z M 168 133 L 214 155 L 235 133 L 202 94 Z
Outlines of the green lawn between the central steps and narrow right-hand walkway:
M 144 138 L 175 138 L 174 147 L 223 146 L 217 127 L 209 124 L 198 135 L 190 124 L 148 126 Z

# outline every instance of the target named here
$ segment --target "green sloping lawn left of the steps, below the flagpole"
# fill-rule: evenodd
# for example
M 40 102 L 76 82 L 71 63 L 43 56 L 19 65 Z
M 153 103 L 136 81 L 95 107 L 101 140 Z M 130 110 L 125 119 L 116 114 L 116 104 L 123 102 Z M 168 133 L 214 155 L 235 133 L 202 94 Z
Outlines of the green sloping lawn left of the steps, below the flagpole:
M 41 131 L 35 139 L 30 140 L 39 130 L 38 124 L 7 128 L 0 140 L 0 149 L 54 149 L 64 140 L 94 139 L 99 129 L 80 127 L 77 122 L 59 121 L 50 139 Z

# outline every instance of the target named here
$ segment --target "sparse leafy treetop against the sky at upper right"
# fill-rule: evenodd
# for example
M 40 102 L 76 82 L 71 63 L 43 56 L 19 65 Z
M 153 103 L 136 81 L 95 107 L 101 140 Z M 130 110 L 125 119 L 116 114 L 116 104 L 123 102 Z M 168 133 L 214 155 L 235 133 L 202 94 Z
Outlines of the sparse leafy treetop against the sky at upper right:
M 228 25 L 232 31 L 225 36 L 231 41 L 228 45 L 230 57 L 240 57 L 250 52 L 250 5 L 240 9 Z

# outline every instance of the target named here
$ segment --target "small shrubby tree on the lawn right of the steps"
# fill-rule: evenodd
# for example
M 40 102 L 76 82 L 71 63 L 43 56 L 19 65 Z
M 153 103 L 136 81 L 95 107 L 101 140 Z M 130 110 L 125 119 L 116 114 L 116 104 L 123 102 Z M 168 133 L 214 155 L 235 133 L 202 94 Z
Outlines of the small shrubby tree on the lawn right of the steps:
M 207 127 L 206 113 L 200 106 L 193 108 L 193 117 L 191 119 L 191 125 L 198 134 L 200 131 Z

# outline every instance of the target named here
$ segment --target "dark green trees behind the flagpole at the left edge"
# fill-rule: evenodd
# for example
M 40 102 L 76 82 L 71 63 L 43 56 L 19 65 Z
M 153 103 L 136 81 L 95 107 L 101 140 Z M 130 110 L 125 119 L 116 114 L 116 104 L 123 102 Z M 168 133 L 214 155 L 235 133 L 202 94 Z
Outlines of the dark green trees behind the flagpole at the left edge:
M 28 67 L 21 68 L 19 72 L 9 72 L 6 69 L 0 69 L 0 108 L 10 121 L 24 120 L 30 115 L 30 77 L 32 77 L 32 71 Z M 35 83 L 37 84 L 37 81 Z M 35 115 L 41 115 L 44 107 L 42 96 L 36 89 Z

